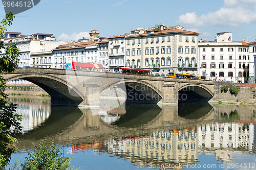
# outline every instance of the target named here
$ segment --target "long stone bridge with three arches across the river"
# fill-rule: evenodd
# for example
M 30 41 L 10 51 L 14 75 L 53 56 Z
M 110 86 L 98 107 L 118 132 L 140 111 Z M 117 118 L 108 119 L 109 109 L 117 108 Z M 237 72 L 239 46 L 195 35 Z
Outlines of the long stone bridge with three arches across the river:
M 99 105 L 100 93 L 116 87 L 126 102 L 177 105 L 178 101 L 208 102 L 220 82 L 115 74 L 54 68 L 17 68 L 4 74 L 6 82 L 15 79 L 30 81 L 51 95 L 51 104 L 93 107 Z

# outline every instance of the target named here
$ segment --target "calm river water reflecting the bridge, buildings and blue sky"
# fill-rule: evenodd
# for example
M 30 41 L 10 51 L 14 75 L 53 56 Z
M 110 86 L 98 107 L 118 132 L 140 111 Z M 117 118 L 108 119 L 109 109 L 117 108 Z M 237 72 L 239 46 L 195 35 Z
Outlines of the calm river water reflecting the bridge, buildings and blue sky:
M 178 106 L 100 101 L 100 108 L 51 107 L 16 96 L 23 135 L 11 167 L 47 140 L 79 169 L 255 169 L 256 106 Z

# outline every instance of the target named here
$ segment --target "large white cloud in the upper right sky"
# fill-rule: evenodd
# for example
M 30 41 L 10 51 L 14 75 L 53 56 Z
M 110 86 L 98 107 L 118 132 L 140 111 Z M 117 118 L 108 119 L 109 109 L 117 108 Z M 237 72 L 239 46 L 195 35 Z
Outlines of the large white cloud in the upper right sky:
M 239 6 L 248 3 L 251 6 Z M 256 22 L 255 0 L 224 0 L 224 5 L 232 8 L 220 8 L 218 11 L 197 16 L 195 12 L 188 12 L 179 16 L 178 23 L 190 27 L 200 26 L 239 26 L 241 23 Z

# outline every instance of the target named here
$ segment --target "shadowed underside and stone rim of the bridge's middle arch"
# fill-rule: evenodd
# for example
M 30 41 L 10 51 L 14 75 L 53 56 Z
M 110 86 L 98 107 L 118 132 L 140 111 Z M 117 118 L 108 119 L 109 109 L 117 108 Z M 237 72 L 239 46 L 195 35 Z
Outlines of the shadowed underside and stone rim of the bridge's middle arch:
M 157 104 L 163 99 L 163 94 L 157 87 L 141 80 L 125 79 L 117 81 L 103 88 L 100 93 L 109 87 L 117 86 L 126 93 L 126 103 Z

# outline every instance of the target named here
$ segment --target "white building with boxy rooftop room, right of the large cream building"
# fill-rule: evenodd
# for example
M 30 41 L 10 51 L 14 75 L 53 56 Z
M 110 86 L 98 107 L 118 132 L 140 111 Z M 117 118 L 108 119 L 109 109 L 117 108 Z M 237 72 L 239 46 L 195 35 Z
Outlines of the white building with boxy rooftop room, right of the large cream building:
M 246 83 L 249 76 L 249 45 L 232 41 L 232 33 L 217 33 L 214 41 L 199 42 L 199 75 L 207 80 Z

